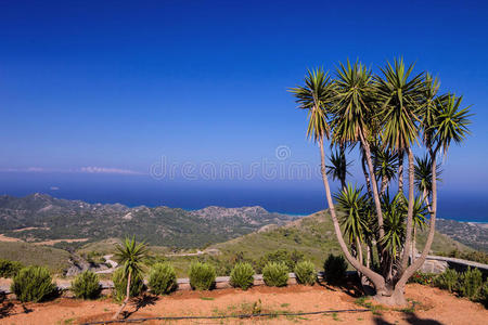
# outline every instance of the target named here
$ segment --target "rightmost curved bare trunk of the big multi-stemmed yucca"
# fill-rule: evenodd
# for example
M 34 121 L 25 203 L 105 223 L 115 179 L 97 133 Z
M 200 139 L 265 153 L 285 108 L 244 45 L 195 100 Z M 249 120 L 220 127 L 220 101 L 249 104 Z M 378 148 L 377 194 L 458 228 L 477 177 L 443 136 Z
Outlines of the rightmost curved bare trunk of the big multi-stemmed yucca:
M 419 270 L 422 264 L 425 262 L 425 258 L 428 255 L 428 251 L 431 250 L 432 243 L 434 240 L 434 234 L 436 230 L 436 213 L 437 213 L 437 171 L 436 171 L 436 155 L 437 151 L 429 150 L 431 153 L 431 159 L 432 159 L 432 209 L 431 209 L 431 222 L 429 222 L 429 230 L 428 230 L 428 236 L 427 242 L 425 243 L 424 249 L 422 250 L 421 256 L 419 259 L 415 260 L 401 275 L 400 280 L 398 281 L 396 285 L 397 289 L 404 289 L 404 285 L 407 284 L 407 281 L 415 273 L 416 270 Z

